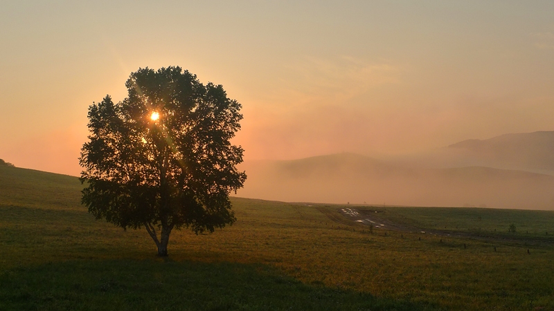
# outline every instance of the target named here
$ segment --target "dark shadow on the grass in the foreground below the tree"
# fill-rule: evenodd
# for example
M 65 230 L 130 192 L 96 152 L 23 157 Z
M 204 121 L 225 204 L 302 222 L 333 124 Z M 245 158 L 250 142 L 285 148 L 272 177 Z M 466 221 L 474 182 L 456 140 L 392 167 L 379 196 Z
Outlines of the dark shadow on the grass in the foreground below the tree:
M 0 310 L 432 310 L 306 285 L 265 265 L 70 261 L 0 273 Z

